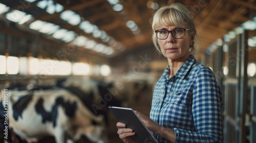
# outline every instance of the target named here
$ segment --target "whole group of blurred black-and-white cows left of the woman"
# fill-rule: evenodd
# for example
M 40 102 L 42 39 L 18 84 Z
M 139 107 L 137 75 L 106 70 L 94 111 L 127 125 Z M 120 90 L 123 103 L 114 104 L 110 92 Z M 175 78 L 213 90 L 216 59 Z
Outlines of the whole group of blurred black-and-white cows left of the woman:
M 58 143 L 75 142 L 82 135 L 91 142 L 108 142 L 108 107 L 123 106 L 113 84 L 97 80 L 65 79 L 55 86 L 24 88 L 18 84 L 8 88 L 6 142 L 37 142 L 45 136 L 54 136 Z M 2 132 L 7 130 L 3 92 Z

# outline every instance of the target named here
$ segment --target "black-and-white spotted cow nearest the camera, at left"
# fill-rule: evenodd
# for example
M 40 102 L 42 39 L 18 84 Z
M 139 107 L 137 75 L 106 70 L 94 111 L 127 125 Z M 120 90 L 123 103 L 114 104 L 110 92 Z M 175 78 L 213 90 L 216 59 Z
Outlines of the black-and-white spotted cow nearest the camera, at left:
M 1 93 L 3 94 L 3 93 Z M 0 110 L 3 96 L 0 96 Z M 9 128 L 28 142 L 54 136 L 55 142 L 108 142 L 103 115 L 95 115 L 73 93 L 63 88 L 8 92 Z

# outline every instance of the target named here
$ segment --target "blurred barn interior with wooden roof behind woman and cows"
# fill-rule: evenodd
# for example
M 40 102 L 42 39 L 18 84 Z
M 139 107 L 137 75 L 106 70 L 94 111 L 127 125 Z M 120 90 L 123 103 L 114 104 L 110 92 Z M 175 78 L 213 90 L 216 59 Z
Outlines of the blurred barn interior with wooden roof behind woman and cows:
M 76 88 L 104 84 L 108 92 L 96 103 L 108 113 L 109 142 L 122 142 L 104 100 L 150 115 L 168 65 L 152 42 L 152 18 L 170 3 L 193 15 L 201 40 L 195 57 L 221 86 L 223 142 L 256 142 L 255 0 L 1 0 L 1 89 L 44 92 L 63 80 Z M 55 142 L 39 140 L 46 141 Z

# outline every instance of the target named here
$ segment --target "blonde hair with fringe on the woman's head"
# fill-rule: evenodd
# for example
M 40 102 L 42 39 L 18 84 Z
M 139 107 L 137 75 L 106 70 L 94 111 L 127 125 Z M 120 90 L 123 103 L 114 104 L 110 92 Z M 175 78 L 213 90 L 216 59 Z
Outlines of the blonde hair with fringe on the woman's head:
M 154 14 L 152 23 L 152 40 L 159 53 L 162 52 L 161 47 L 158 44 L 158 39 L 156 37 L 155 31 L 158 30 L 161 25 L 185 27 L 186 29 L 189 29 L 189 31 L 187 32 L 189 32 L 191 36 L 194 37 L 194 42 L 189 45 L 189 53 L 191 55 L 196 54 L 200 39 L 196 31 L 193 16 L 184 5 L 175 3 L 169 6 L 163 6 Z

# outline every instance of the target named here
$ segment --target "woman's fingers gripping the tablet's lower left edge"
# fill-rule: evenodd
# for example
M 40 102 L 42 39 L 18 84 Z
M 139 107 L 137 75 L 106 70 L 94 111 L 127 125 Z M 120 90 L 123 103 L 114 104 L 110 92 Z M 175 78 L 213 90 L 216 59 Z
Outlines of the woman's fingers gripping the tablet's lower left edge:
M 116 124 L 119 134 L 119 138 L 123 140 L 125 143 L 136 143 L 130 136 L 135 135 L 135 132 L 132 129 L 125 128 L 125 124 L 118 122 Z

